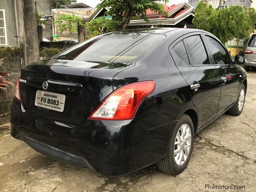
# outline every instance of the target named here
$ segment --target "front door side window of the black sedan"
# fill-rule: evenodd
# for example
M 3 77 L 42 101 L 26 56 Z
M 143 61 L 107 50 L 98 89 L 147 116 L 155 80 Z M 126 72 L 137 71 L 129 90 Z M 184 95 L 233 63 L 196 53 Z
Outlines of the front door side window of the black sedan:
M 218 64 L 218 65 L 230 64 L 228 53 L 223 48 L 223 46 L 212 37 L 206 36 L 206 38 L 208 40 L 209 47 L 212 51 L 215 64 Z

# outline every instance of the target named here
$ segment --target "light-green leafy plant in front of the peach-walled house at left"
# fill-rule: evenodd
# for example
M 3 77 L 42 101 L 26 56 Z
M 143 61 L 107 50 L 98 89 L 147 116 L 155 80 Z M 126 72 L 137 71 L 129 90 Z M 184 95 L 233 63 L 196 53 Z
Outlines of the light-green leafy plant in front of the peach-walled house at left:
M 74 15 L 58 15 L 54 24 L 58 31 L 69 31 L 70 33 L 77 31 L 77 23 L 81 22 L 82 18 Z

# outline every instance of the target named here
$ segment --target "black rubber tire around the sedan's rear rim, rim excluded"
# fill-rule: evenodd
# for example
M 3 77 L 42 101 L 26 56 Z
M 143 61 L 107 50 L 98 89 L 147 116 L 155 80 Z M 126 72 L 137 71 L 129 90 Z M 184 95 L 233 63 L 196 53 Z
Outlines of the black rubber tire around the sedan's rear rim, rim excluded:
M 176 143 L 179 142 L 177 139 L 176 139 L 176 136 L 178 137 L 178 132 L 180 134 L 180 137 L 182 138 L 182 133 L 180 132 L 180 128 L 182 129 L 184 127 L 184 124 L 187 124 L 189 126 L 189 129 L 190 129 L 190 133 L 191 133 L 191 140 L 190 140 L 190 149 L 188 151 L 188 156 L 186 158 L 185 161 L 182 161 L 180 162 L 180 165 L 178 165 L 176 163 L 176 161 L 178 161 L 179 163 L 179 157 L 180 156 L 180 153 L 182 153 L 181 151 L 183 151 L 183 153 L 185 152 L 185 146 L 188 146 L 189 144 L 189 139 L 188 141 L 185 142 L 185 146 L 184 146 L 184 142 L 182 145 L 180 144 L 175 144 L 175 141 Z M 186 127 L 186 130 L 188 130 L 188 127 L 187 125 L 185 125 Z M 189 133 L 189 131 L 186 131 L 186 134 L 185 134 L 185 137 L 186 135 Z M 194 126 L 193 126 L 193 122 L 191 120 L 191 118 L 186 115 L 186 114 L 183 114 L 179 120 L 179 122 L 177 123 L 177 125 L 175 126 L 174 128 L 174 131 L 173 131 L 173 134 L 172 134 L 172 137 L 171 137 L 171 140 L 170 140 L 170 145 L 168 147 L 168 152 L 167 152 L 167 155 L 164 157 L 164 159 L 161 159 L 160 161 L 157 162 L 157 167 L 162 171 L 162 172 L 165 172 L 165 173 L 168 173 L 168 174 L 171 174 L 171 175 L 178 175 L 180 174 L 187 166 L 188 162 L 189 162 L 189 159 L 190 159 L 190 156 L 192 154 L 192 150 L 193 150 L 193 143 L 194 143 Z M 180 145 L 179 148 L 182 148 L 184 147 L 184 150 L 181 149 L 181 150 L 178 150 L 178 145 Z M 176 155 L 176 157 L 174 157 L 174 151 L 180 151 L 179 154 Z M 185 156 L 184 156 L 185 158 Z M 175 160 L 176 159 L 176 160 Z M 178 160 L 177 160 L 178 159 Z M 181 164 L 182 163 L 182 164 Z

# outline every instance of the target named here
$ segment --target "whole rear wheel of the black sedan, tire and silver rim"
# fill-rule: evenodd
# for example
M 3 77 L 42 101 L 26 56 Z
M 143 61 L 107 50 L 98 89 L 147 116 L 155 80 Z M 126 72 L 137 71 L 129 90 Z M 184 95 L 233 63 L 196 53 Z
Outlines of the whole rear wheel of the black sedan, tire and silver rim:
M 180 174 L 187 166 L 194 143 L 194 126 L 191 118 L 184 114 L 177 123 L 167 155 L 157 167 L 168 174 Z

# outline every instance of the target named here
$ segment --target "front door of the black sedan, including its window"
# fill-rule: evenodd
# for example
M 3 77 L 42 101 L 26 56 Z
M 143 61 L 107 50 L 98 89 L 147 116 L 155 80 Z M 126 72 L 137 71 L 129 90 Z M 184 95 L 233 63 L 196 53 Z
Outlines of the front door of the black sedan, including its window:
M 218 114 L 220 114 L 236 102 L 240 74 L 224 45 L 214 36 L 205 35 L 204 37 L 209 45 L 212 61 L 215 63 L 221 80 L 220 103 L 218 108 Z

